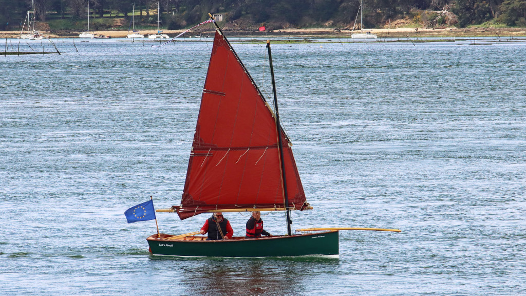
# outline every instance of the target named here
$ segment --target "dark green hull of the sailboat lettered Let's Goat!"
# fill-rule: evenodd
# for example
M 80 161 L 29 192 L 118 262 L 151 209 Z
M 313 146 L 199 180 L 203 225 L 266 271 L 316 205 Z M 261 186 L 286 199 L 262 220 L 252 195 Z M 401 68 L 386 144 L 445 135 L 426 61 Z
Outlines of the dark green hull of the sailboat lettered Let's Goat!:
M 163 234 L 161 234 L 162 237 L 164 237 Z M 150 245 L 150 252 L 154 255 L 197 257 L 338 256 L 338 231 L 225 241 L 166 240 L 157 239 L 157 234 L 154 234 L 147 241 Z

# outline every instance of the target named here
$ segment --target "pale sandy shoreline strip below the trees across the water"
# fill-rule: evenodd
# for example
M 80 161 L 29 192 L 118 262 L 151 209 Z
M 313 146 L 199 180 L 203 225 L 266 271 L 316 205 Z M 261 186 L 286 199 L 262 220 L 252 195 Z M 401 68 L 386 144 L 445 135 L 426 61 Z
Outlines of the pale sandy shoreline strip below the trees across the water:
M 526 37 L 526 28 L 440 28 L 440 29 L 423 29 L 423 28 L 391 28 L 391 29 L 367 29 L 365 31 L 383 37 Z M 155 34 L 155 29 L 140 31 L 141 34 L 148 38 L 148 34 Z M 164 30 L 163 33 L 174 37 L 184 32 L 181 30 Z M 41 32 L 45 37 L 51 38 L 72 38 L 78 37 L 80 32 Z M 127 30 L 106 30 L 93 31 L 92 33 L 103 34 L 113 38 L 123 38 L 128 34 Z M 213 34 L 214 31 L 201 32 L 202 35 Z M 308 29 L 278 29 L 269 32 L 250 32 L 250 31 L 232 31 L 225 30 L 227 36 L 239 37 L 265 37 L 265 36 L 303 36 L 303 37 L 348 37 L 351 35 L 350 30 L 335 28 L 308 28 Z M 18 31 L 0 31 L 0 38 L 17 38 Z M 188 33 L 192 35 L 191 32 Z M 186 34 L 185 34 L 186 36 Z

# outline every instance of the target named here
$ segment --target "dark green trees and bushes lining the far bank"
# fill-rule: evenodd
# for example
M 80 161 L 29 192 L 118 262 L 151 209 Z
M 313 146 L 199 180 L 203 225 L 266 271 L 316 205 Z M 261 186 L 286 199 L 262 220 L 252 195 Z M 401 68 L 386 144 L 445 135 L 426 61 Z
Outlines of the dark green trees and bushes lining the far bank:
M 223 13 L 228 22 L 269 28 L 285 26 L 348 26 L 355 22 L 360 0 L 33 0 L 35 17 L 46 22 L 50 16 L 86 18 L 129 18 L 135 5 L 140 15 L 150 17 L 159 5 L 165 23 L 181 28 L 207 18 L 208 12 Z M 32 0 L 0 0 L 0 29 L 19 27 Z M 426 12 L 422 14 L 423 12 Z M 445 17 L 444 13 L 454 17 Z M 434 13 L 434 14 L 433 14 Z M 506 26 L 526 26 L 526 0 L 365 0 L 364 26 L 380 27 L 396 19 L 428 21 L 435 25 L 466 27 L 484 23 Z M 433 19 L 434 17 L 434 19 Z M 442 19 L 441 19 L 442 18 Z

